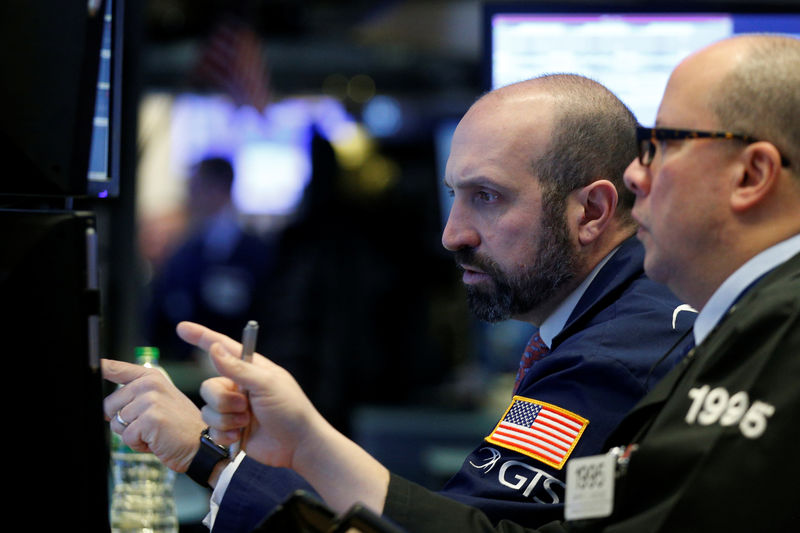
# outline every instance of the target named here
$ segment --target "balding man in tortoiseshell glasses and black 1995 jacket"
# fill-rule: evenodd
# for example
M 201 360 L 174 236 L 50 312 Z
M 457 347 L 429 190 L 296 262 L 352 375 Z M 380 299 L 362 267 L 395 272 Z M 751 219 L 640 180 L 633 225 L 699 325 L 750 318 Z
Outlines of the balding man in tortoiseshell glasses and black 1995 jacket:
M 673 72 L 625 181 L 647 273 L 701 310 L 696 348 L 622 421 L 608 454 L 570 461 L 569 520 L 540 531 L 796 529 L 798 118 L 797 39 L 728 39 Z M 256 373 L 218 348 L 224 375 L 250 387 L 268 377 L 301 401 L 274 369 Z M 313 464 L 312 484 L 335 477 L 339 511 L 367 502 L 411 532 L 524 530 L 393 476 L 313 414 L 298 428 L 302 408 L 270 409 L 275 421 L 297 415 L 270 429 L 298 465 Z

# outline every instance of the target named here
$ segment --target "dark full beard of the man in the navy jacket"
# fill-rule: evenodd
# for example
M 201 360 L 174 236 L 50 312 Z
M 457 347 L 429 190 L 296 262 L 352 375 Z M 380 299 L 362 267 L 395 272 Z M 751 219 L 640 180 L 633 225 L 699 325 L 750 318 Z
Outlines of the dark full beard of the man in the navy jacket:
M 541 220 L 535 256 L 516 272 L 504 272 L 473 248 L 454 252 L 457 263 L 475 266 L 492 279 L 490 286 L 467 285 L 467 303 L 478 319 L 495 323 L 527 314 L 575 277 L 578 254 L 572 248 L 563 210 L 545 209 Z

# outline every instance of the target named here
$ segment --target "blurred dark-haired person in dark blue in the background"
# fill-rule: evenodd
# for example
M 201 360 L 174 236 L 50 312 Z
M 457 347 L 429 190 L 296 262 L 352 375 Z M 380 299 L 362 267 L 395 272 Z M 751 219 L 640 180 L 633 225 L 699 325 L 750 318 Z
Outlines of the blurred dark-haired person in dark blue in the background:
M 255 297 L 274 263 L 274 242 L 246 230 L 231 202 L 234 172 L 222 157 L 195 164 L 188 180 L 188 236 L 152 282 L 144 337 L 165 361 L 193 362 L 175 336 L 186 317 L 214 323 L 238 337 L 256 317 Z

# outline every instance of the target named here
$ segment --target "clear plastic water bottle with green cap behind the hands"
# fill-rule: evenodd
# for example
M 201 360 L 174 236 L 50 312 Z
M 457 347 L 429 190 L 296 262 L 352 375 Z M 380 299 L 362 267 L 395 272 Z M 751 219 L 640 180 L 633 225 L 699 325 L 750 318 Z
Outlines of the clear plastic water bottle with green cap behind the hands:
M 158 364 L 158 348 L 136 348 L 136 362 L 164 372 Z M 132 450 L 116 433 L 111 434 L 111 439 L 112 533 L 178 533 L 175 472 L 155 455 Z

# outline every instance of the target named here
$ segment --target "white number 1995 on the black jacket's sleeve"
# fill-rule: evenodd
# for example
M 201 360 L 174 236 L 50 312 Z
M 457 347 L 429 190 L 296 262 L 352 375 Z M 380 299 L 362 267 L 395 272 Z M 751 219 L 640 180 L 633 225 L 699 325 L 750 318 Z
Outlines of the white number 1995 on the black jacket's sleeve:
M 686 423 L 710 426 L 739 425 L 742 435 L 757 439 L 767 429 L 767 419 L 775 413 L 775 407 L 756 400 L 750 403 L 746 391 L 728 393 L 723 387 L 709 385 L 695 387 L 689 391 L 692 405 L 686 413 Z

